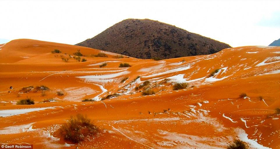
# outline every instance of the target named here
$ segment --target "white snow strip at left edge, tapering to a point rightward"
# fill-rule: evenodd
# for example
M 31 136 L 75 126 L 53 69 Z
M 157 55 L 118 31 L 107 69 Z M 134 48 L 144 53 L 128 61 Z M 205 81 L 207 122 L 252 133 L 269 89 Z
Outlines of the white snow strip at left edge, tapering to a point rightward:
M 0 116 L 8 117 L 8 116 L 13 116 L 13 115 L 18 115 L 18 114 L 29 113 L 29 112 L 33 112 L 33 111 L 45 110 L 45 109 L 49 109 L 49 108 L 56 108 L 56 107 L 1 110 Z

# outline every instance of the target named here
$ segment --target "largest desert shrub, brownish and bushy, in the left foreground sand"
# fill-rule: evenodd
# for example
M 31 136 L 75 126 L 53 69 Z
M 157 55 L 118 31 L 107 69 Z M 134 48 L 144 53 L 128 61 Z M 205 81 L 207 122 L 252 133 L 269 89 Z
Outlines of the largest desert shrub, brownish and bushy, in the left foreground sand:
M 67 123 L 61 126 L 60 134 L 68 141 L 79 143 L 88 135 L 94 135 L 98 132 L 98 127 L 93 125 L 91 120 L 84 115 L 77 114 L 71 116 Z

